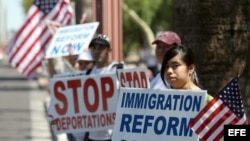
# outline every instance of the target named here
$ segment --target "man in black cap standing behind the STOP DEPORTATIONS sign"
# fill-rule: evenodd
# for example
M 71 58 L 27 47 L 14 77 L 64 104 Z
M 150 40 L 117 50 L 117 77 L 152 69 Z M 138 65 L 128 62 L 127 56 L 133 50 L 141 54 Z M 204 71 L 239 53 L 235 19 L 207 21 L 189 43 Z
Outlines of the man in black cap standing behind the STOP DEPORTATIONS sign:
M 104 34 L 96 34 L 89 47 L 92 57 L 95 62 L 95 66 L 91 70 L 90 74 L 105 74 L 116 73 L 120 66 L 116 61 L 110 61 L 110 52 L 112 48 L 110 46 L 109 38 Z M 104 131 L 89 132 L 89 141 L 111 141 L 112 129 Z

